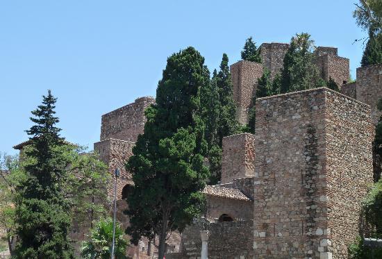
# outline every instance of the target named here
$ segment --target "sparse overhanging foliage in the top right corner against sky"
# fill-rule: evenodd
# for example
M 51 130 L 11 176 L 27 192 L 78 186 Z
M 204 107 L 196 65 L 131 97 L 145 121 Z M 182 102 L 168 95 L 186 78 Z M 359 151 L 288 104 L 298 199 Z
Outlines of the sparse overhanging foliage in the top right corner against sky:
M 358 26 L 365 31 L 374 33 L 381 32 L 382 28 L 382 2 L 381 0 L 360 0 L 356 3 L 356 10 L 353 12 Z

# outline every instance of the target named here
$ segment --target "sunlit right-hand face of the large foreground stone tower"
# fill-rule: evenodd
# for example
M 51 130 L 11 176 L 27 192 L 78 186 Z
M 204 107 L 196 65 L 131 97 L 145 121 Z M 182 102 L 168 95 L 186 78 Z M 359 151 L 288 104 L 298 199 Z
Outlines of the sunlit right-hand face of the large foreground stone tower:
M 325 96 L 328 252 L 348 258 L 347 247 L 358 235 L 361 201 L 373 181 L 374 126 L 369 106 L 333 92 Z

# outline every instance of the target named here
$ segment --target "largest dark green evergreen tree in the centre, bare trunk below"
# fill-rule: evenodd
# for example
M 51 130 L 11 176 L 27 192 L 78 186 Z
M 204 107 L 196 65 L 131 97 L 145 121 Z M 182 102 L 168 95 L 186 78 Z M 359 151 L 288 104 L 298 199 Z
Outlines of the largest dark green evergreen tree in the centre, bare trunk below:
M 206 141 L 198 115 L 199 90 L 209 83 L 204 58 L 192 47 L 167 59 L 158 83 L 156 104 L 147 108 L 144 133 L 138 137 L 127 168 L 134 187 L 128 195 L 131 242 L 159 236 L 158 258 L 165 253 L 167 233 L 182 231 L 199 215 Z

